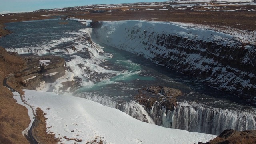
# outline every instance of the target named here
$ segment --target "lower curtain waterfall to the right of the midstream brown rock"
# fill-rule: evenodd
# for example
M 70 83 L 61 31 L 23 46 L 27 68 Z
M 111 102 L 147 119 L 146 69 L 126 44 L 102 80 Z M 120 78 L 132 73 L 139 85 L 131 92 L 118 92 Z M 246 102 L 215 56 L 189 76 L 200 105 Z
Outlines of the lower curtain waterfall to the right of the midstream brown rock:
M 202 104 L 179 102 L 174 111 L 159 108 L 157 103 L 151 110 L 156 124 L 190 132 L 219 135 L 225 129 L 239 131 L 256 129 L 256 115 L 247 110 L 210 108 Z M 157 113 L 158 112 L 158 113 Z

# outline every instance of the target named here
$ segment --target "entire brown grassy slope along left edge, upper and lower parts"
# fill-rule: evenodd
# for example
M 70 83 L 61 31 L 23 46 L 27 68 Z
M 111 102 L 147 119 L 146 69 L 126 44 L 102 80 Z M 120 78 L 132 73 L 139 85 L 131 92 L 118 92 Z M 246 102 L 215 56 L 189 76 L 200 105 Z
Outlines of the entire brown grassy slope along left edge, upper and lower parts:
M 4 78 L 18 72 L 23 64 L 21 58 L 9 55 L 0 47 L 0 144 L 28 144 L 21 133 L 30 123 L 28 110 L 16 103 L 12 92 L 2 85 Z

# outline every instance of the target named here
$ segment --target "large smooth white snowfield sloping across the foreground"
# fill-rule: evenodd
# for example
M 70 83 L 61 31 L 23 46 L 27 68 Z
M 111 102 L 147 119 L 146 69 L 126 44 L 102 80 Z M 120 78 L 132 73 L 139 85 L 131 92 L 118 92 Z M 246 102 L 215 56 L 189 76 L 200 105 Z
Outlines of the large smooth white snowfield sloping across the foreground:
M 24 90 L 24 100 L 35 110 L 46 112 L 47 132 L 62 137 L 65 144 L 73 144 L 63 137 L 86 141 L 102 140 L 114 144 L 191 144 L 207 142 L 215 135 L 170 129 L 141 122 L 120 110 L 68 95 Z

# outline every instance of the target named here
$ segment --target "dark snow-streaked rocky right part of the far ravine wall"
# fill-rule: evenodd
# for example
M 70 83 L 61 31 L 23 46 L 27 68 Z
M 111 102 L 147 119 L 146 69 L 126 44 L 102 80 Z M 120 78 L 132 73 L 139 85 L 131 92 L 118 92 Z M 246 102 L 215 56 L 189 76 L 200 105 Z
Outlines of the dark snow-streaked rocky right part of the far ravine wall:
M 245 48 L 240 42 L 223 46 L 173 35 L 159 36 L 156 44 L 166 47 L 168 54 L 155 54 L 153 61 L 222 91 L 244 98 L 255 96 L 256 46 Z M 157 46 L 150 46 L 152 48 Z

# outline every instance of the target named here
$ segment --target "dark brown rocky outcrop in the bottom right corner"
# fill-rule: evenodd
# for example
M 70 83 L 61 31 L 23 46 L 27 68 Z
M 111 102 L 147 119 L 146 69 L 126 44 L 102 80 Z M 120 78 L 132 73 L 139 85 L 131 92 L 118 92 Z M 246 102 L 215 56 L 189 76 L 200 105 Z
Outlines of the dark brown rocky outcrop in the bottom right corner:
M 198 144 L 256 144 L 256 130 L 236 131 L 227 129 L 210 142 L 198 142 Z

